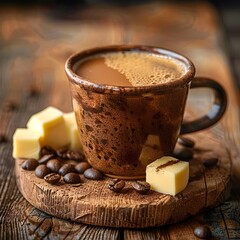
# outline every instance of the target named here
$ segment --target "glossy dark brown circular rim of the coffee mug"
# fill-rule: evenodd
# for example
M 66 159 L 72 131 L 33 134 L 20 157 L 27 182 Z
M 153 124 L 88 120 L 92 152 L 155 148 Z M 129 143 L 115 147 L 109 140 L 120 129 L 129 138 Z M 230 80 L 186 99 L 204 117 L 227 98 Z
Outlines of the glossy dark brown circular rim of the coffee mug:
M 73 71 L 73 66 L 79 62 L 81 59 L 87 59 L 88 57 L 97 54 L 106 54 L 111 52 L 121 52 L 121 51 L 142 51 L 153 54 L 158 54 L 162 56 L 167 56 L 182 62 L 186 67 L 186 72 L 174 81 L 154 84 L 154 85 L 144 85 L 144 86 L 116 86 L 107 84 L 97 84 L 93 83 Z M 175 90 L 188 85 L 195 75 L 195 66 L 191 60 L 189 60 L 184 55 L 161 47 L 147 46 L 147 45 L 109 45 L 100 46 L 83 51 L 79 51 L 71 55 L 65 63 L 65 72 L 69 81 L 80 85 L 86 90 L 91 90 L 98 93 L 109 93 L 109 94 L 146 94 L 152 92 L 165 92 L 169 90 Z

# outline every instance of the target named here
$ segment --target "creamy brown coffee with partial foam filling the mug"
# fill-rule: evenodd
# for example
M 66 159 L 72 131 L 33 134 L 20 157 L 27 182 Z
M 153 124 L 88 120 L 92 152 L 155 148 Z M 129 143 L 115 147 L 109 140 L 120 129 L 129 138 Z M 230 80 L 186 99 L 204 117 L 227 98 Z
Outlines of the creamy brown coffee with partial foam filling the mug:
M 80 62 L 76 69 L 77 75 L 92 83 L 132 87 L 174 81 L 185 72 L 176 59 L 137 51 L 99 54 Z

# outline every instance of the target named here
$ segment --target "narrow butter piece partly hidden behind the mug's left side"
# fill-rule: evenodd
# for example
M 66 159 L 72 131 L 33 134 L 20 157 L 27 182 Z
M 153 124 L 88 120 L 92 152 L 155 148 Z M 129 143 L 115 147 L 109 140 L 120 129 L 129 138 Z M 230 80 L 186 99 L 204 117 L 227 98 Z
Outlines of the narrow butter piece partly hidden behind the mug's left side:
M 80 134 L 77 128 L 77 122 L 74 112 L 64 113 L 63 117 L 69 131 L 70 149 L 73 151 L 81 152 L 82 144 L 80 141 Z

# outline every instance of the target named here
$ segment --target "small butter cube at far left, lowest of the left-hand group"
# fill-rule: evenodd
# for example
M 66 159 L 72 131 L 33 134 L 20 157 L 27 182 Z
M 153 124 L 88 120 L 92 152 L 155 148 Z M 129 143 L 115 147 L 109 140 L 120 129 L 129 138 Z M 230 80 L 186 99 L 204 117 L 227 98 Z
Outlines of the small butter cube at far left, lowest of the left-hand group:
M 16 129 L 13 135 L 13 157 L 38 159 L 40 134 L 27 128 Z

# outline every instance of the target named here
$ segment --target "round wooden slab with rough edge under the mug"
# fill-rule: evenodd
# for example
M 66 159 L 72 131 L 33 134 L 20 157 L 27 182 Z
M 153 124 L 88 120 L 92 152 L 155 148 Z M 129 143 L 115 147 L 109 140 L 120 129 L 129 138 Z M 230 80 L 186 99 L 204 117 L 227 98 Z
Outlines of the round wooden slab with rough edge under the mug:
M 230 192 L 231 162 L 227 150 L 206 134 L 191 138 L 197 144 L 190 161 L 189 184 L 175 197 L 154 191 L 140 195 L 131 187 L 131 181 L 126 181 L 121 193 L 115 193 L 108 189 L 108 177 L 101 181 L 82 177 L 81 185 L 66 184 L 63 180 L 50 185 L 33 171 L 23 170 L 21 159 L 16 160 L 17 184 L 34 207 L 74 222 L 125 228 L 176 223 L 222 203 Z M 204 167 L 201 159 L 207 155 L 218 157 L 218 164 Z

